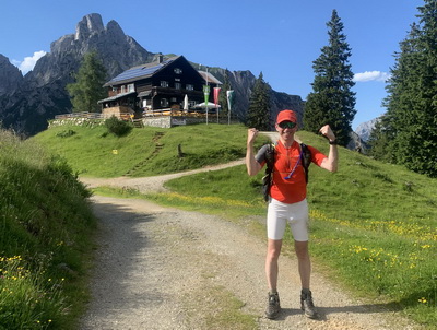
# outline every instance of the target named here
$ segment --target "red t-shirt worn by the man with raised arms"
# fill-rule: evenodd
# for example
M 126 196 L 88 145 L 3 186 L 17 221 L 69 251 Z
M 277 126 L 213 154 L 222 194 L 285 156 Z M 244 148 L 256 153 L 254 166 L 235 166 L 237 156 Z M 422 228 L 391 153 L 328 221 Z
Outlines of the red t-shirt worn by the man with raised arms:
M 311 162 L 320 166 L 327 157 L 316 148 L 307 145 L 311 152 Z M 263 166 L 265 164 L 265 149 L 261 149 L 256 160 Z M 296 141 L 286 149 L 281 141 L 275 144 L 273 184 L 270 189 L 270 196 L 280 202 L 292 204 L 303 201 L 307 197 L 307 184 L 305 181 L 305 169 L 299 161 L 300 144 Z M 296 163 L 297 166 L 296 166 Z M 291 175 L 292 174 L 292 175 Z M 290 176 L 291 175 L 291 176 Z M 290 178 L 285 178 L 290 177 Z

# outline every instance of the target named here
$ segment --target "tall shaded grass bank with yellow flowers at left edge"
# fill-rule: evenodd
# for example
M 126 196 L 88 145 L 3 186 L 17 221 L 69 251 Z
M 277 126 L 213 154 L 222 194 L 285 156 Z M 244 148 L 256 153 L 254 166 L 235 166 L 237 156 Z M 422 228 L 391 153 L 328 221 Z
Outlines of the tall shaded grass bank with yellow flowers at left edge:
M 62 158 L 0 131 L 0 329 L 73 329 L 90 192 Z

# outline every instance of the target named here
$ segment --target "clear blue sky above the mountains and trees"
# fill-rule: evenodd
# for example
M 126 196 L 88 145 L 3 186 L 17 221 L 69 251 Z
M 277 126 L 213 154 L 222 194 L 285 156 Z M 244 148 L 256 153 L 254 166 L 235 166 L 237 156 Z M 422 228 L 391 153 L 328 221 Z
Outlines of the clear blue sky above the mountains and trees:
M 356 76 L 353 129 L 385 113 L 385 78 L 393 55 L 417 21 L 422 0 L 24 0 L 1 4 L 0 54 L 23 72 L 50 51 L 50 43 L 75 32 L 90 13 L 151 52 L 184 55 L 208 67 L 262 71 L 273 90 L 305 99 L 312 61 L 328 45 L 327 22 L 335 9 L 352 48 Z

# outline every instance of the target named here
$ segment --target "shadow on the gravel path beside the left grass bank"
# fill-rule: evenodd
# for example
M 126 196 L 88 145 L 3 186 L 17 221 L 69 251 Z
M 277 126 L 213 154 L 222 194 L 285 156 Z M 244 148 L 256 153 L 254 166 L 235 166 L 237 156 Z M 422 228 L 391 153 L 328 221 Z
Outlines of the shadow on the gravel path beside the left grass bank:
M 147 224 L 156 221 L 153 213 L 134 212 L 128 205 L 93 202 L 99 219 L 96 237 L 95 269 L 92 271 L 92 303 L 80 329 L 96 329 L 94 321 L 110 319 L 115 314 L 137 309 L 144 304 L 160 305 L 166 299 L 157 286 L 147 292 L 135 291 L 135 281 L 147 279 L 156 260 L 144 251 L 153 251 L 154 244 L 147 235 Z M 132 285 L 133 280 L 133 285 Z M 147 288 L 147 286 L 142 286 Z

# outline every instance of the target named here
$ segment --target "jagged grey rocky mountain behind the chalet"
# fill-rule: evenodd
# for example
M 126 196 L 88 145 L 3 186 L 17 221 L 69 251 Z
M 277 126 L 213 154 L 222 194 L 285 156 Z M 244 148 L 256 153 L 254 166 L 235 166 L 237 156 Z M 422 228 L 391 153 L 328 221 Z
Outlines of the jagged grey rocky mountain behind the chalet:
M 101 57 L 108 80 L 155 58 L 155 54 L 149 52 L 126 35 L 116 21 L 110 21 L 105 27 L 99 14 L 88 14 L 76 24 L 75 33 L 51 43 L 50 52 L 42 57 L 34 70 L 24 78 L 9 60 L 0 58 L 0 120 L 4 127 L 32 135 L 46 129 L 47 120 L 55 115 L 71 113 L 72 106 L 66 85 L 73 82 L 83 56 L 90 51 L 96 51 Z M 2 73 L 2 68 L 5 68 L 5 73 Z M 213 74 L 224 81 L 225 71 L 218 68 Z M 233 113 L 244 120 L 256 78 L 250 71 L 227 73 L 231 73 L 231 84 L 235 90 L 235 98 L 238 99 Z M 7 91 L 3 95 L 2 89 Z M 300 96 L 272 90 L 270 94 L 272 117 L 284 108 L 293 108 L 302 117 L 304 107 Z

